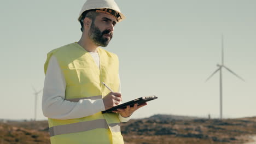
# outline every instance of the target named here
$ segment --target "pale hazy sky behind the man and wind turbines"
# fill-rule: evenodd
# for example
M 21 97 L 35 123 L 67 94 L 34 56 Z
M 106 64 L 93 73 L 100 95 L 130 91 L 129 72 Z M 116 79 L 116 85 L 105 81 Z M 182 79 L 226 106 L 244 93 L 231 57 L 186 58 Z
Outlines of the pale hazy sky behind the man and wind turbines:
M 80 39 L 85 1 L 0 1 L 0 119 L 34 117 L 31 85 L 42 89 L 46 53 Z M 221 59 L 224 118 L 256 116 L 256 1 L 116 0 L 126 20 L 106 50 L 117 53 L 123 101 L 158 96 L 133 118 L 155 114 L 219 117 Z M 43 116 L 38 95 L 37 119 Z

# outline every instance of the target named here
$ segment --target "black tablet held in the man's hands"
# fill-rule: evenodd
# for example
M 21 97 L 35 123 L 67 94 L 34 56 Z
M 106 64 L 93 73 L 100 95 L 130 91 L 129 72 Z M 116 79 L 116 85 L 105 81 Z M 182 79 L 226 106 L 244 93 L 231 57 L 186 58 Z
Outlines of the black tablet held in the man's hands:
M 112 112 L 112 111 L 117 110 L 117 109 L 125 109 L 127 105 L 130 105 L 131 107 L 133 107 L 134 104 L 139 105 L 139 104 L 142 104 L 142 103 L 145 103 L 147 101 L 154 100 L 154 99 L 157 99 L 157 98 L 158 97 L 156 97 L 155 95 L 149 96 L 149 97 L 141 97 L 141 98 L 138 98 L 138 99 L 135 99 L 135 100 L 128 101 L 124 104 L 114 106 L 114 107 L 112 107 L 108 110 L 102 111 L 102 113 Z

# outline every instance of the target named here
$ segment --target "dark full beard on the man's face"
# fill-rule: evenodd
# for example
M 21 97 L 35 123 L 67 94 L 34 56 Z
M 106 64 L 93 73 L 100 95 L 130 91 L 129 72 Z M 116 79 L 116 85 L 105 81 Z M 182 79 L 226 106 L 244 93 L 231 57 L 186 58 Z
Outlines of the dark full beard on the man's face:
M 94 41 L 94 43 L 96 45 L 102 46 L 102 47 L 106 47 L 108 45 L 109 41 L 113 37 L 113 33 L 111 33 L 109 30 L 105 30 L 105 31 L 101 32 L 101 30 L 94 25 L 94 22 L 92 22 L 91 28 L 90 28 L 90 31 L 89 31 L 88 34 L 89 34 L 89 38 L 92 41 Z M 104 34 L 109 34 L 110 39 L 109 38 L 104 38 L 103 37 Z

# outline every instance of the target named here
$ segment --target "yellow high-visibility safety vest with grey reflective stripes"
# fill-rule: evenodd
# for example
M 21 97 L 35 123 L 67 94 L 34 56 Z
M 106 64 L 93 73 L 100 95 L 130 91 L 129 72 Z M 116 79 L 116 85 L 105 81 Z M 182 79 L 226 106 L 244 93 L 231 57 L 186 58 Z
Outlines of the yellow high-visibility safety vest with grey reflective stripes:
M 119 62 L 114 53 L 98 47 L 100 69 L 88 51 L 77 43 L 68 44 L 48 53 L 44 72 L 51 56 L 57 62 L 66 80 L 65 100 L 102 99 L 109 93 L 101 82 L 114 92 L 119 88 Z M 76 119 L 48 118 L 51 143 L 124 143 L 117 113 L 95 113 Z

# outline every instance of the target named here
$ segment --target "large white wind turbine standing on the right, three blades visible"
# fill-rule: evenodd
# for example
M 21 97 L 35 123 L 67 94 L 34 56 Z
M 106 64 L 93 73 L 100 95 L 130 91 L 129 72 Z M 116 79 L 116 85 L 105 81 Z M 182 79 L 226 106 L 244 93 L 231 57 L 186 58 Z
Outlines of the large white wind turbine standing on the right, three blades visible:
M 222 69 L 225 68 L 226 70 L 228 70 L 231 74 L 234 74 L 236 77 L 238 77 L 239 79 L 241 79 L 242 81 L 245 81 L 242 79 L 242 77 L 238 76 L 236 73 L 234 73 L 234 71 L 230 70 L 228 67 L 226 67 L 224 65 L 224 40 L 223 40 L 223 35 L 222 35 L 222 64 L 217 64 L 218 69 L 216 71 L 213 72 L 212 75 L 210 75 L 206 81 L 208 81 L 209 79 L 211 79 L 211 77 L 216 74 L 219 71 L 219 91 L 220 91 L 220 119 L 222 119 L 222 91 L 223 91 L 223 87 L 222 87 Z M 205 82 L 206 82 L 205 81 Z

